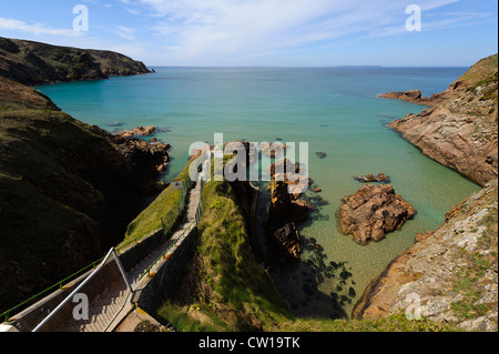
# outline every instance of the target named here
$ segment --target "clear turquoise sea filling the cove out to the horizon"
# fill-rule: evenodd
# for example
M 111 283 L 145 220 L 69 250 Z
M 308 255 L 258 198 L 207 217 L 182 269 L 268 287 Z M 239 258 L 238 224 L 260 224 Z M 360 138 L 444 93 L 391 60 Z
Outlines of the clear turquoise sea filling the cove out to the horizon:
M 109 131 L 163 128 L 156 138 L 172 145 L 166 181 L 184 166 L 189 146 L 213 143 L 214 133 L 223 133 L 224 141 L 308 142 L 309 175 L 328 204 L 301 227 L 322 252 L 308 247 L 303 266 L 286 270 L 289 281 L 283 282 L 298 315 L 334 316 L 330 302 L 348 315 L 369 282 L 414 243 L 416 233 L 436 230 L 452 205 L 479 190 L 386 127 L 425 107 L 377 97 L 411 89 L 431 95 L 468 68 L 154 69 L 155 74 L 37 89 L 72 117 Z M 337 231 L 335 213 L 342 198 L 361 188 L 354 175 L 379 172 L 390 176 L 396 192 L 418 213 L 385 240 L 358 245 Z M 317 269 L 320 276 L 314 277 Z

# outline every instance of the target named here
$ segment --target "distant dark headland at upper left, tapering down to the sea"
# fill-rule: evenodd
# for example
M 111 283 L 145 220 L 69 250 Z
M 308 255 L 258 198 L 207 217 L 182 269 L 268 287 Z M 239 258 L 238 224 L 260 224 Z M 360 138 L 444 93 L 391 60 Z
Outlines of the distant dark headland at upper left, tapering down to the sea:
M 140 61 L 111 51 L 78 49 L 0 37 L 0 77 L 23 84 L 108 79 L 149 73 Z

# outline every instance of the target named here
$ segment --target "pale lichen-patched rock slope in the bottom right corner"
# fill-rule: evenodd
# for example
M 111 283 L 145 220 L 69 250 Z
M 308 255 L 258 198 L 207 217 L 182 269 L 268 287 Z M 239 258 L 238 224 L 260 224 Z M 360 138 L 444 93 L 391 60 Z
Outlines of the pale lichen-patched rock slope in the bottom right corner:
M 436 232 L 419 234 L 367 287 L 353 316 L 406 312 L 462 331 L 497 331 L 497 200 L 492 180 L 452 208 Z

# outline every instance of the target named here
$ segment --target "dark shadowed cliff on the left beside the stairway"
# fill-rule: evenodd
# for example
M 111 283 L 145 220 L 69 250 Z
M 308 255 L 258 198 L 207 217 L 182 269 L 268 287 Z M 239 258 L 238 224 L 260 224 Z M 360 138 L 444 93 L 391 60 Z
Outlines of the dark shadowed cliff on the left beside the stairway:
M 164 188 L 167 149 L 77 121 L 0 77 L 0 312 L 118 244 Z

